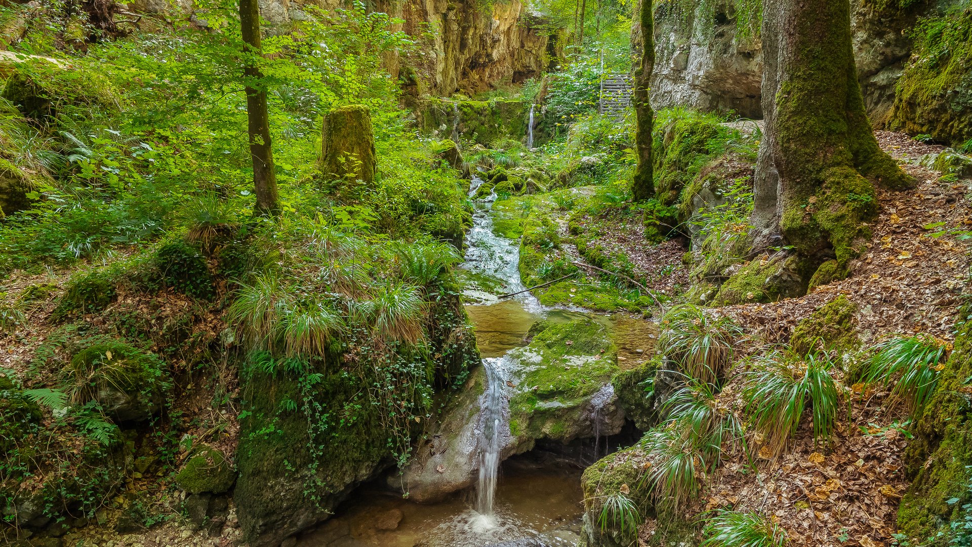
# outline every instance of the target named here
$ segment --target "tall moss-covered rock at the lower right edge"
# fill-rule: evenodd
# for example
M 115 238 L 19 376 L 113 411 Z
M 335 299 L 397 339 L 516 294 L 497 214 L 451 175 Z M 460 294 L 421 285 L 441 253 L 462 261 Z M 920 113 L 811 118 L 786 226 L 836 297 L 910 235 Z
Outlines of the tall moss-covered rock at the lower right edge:
M 962 506 L 972 502 L 972 321 L 955 336 L 955 349 L 924 406 L 905 461 L 914 481 L 898 508 L 898 527 L 922 544 L 950 545 L 951 524 L 963 526 Z M 942 531 L 943 535 L 936 534 Z M 924 543 L 925 538 L 932 538 Z

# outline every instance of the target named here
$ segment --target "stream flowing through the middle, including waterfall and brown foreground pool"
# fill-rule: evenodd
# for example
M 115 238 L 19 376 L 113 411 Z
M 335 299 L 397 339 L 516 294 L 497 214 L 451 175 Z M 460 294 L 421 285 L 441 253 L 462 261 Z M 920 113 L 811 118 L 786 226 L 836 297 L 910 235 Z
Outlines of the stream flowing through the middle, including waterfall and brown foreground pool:
M 474 178 L 470 196 L 481 181 Z M 483 425 L 478 440 L 478 477 L 471 492 L 460 492 L 433 504 L 419 504 L 366 485 L 342 505 L 321 528 L 304 535 L 297 545 L 308 547 L 573 547 L 579 540 L 582 516 L 580 474 L 564 458 L 514 456 L 501 463 L 504 357 L 523 346 L 536 321 L 566 322 L 581 315 L 573 310 L 541 306 L 529 292 L 506 299 L 498 294 L 524 290 L 518 269 L 519 244 L 493 233 L 490 211 L 495 195 L 476 201 L 468 249 L 462 268 L 499 281 L 491 291 L 467 291 L 466 310 L 475 327 L 483 358 L 486 392 L 481 397 Z M 607 317 L 599 320 L 608 322 Z M 623 347 L 622 347 L 623 350 Z M 598 441 L 587 441 L 596 444 Z M 602 445 L 605 441 L 600 441 Z M 589 451 L 590 449 L 588 449 Z M 595 448 L 597 450 L 597 448 Z M 328 531 L 330 530 L 330 531 Z

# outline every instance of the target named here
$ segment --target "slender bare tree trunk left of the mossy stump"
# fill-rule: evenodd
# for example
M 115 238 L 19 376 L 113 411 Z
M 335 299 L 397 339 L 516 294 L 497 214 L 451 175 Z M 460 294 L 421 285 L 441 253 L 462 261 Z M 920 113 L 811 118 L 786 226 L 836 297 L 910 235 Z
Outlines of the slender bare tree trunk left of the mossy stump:
M 258 0 L 240 0 L 240 24 L 243 42 L 251 55 L 261 55 L 260 4 Z M 251 57 L 252 60 L 252 57 Z M 249 119 L 250 156 L 253 158 L 253 185 L 257 192 L 257 214 L 276 214 L 277 175 L 273 168 L 273 149 L 270 146 L 270 119 L 266 106 L 266 90 L 257 89 L 262 74 L 256 62 L 243 68 L 246 80 L 246 110 Z

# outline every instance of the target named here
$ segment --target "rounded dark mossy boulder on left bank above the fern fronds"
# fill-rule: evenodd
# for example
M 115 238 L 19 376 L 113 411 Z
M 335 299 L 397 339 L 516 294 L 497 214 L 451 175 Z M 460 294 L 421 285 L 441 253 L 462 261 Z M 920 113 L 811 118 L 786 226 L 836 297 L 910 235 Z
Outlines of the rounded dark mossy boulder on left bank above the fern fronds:
M 117 421 L 150 419 L 161 411 L 172 382 L 155 353 L 122 342 L 87 346 L 62 371 L 72 399 L 97 401 Z

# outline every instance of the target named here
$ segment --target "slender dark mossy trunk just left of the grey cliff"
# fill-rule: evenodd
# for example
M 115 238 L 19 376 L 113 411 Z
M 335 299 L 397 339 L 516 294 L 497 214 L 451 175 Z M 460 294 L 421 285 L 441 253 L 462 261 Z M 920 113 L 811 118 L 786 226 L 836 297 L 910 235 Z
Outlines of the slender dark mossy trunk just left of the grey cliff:
M 631 184 L 635 201 L 644 201 L 655 195 L 655 182 L 651 172 L 651 122 L 654 112 L 648 101 L 651 71 L 655 66 L 654 20 L 651 13 L 651 0 L 642 0 L 638 10 L 641 40 L 641 58 L 635 68 L 635 148 L 638 150 L 638 165 Z

